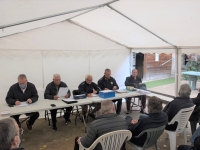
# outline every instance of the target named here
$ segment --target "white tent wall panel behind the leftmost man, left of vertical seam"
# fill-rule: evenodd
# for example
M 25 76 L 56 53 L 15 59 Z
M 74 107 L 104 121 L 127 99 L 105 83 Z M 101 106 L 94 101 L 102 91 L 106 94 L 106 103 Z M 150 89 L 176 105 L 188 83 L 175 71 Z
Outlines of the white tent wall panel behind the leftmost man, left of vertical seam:
M 26 74 L 28 81 L 37 87 L 39 97 L 43 97 L 41 51 L 0 50 L 0 64 L 0 103 L 5 102 L 6 94 L 10 86 L 17 83 L 19 74 Z

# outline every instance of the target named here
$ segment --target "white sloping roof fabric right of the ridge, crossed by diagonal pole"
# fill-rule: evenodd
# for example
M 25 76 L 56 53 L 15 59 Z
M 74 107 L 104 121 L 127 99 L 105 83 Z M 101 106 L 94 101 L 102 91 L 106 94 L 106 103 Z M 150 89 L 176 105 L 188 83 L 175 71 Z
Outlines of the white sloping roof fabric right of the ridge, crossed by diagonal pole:
M 198 0 L 122 0 L 111 6 L 176 46 L 200 45 Z M 169 46 L 108 8 L 73 20 L 130 47 Z

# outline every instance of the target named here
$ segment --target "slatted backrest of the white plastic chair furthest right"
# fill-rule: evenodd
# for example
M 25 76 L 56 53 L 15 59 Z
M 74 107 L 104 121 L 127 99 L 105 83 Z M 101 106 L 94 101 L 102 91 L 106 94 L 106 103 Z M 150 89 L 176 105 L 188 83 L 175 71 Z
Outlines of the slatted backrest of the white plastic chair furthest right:
M 176 128 L 176 133 L 181 133 L 186 127 L 186 124 L 195 108 L 195 105 L 188 108 L 183 108 L 179 110 L 179 112 L 174 116 L 174 118 L 168 124 L 174 124 L 176 121 L 178 122 L 178 126 Z

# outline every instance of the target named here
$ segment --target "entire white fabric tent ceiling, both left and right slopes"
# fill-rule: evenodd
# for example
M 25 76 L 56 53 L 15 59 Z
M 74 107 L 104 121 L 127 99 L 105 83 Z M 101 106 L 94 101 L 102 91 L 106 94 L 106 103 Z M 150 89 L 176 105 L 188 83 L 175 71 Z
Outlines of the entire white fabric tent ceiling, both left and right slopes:
M 0 25 L 88 8 L 108 2 L 111 2 L 111 0 L 2 0 L 0 1 Z M 110 5 L 178 47 L 200 46 L 200 1 L 198 0 L 120 0 Z M 70 17 L 64 17 L 58 21 L 68 18 Z M 169 46 L 169 44 L 106 6 L 72 20 L 128 47 Z M 51 23 L 53 22 L 57 21 Z M 50 24 L 45 24 L 42 21 L 40 23 L 43 23 L 42 26 Z M 12 34 L 12 32 L 16 33 L 18 30 L 23 32 L 41 27 L 40 23 L 27 27 L 27 29 L 25 26 L 21 26 L 20 29 L 16 27 L 7 33 L 1 31 L 0 37 Z M 31 24 L 34 24 L 34 22 Z

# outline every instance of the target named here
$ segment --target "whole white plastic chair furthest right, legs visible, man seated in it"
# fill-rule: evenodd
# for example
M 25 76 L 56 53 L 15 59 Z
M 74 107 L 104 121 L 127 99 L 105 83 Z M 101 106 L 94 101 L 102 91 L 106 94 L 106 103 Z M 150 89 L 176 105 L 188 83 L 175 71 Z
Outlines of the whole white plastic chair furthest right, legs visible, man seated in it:
M 186 135 L 186 125 L 188 120 L 195 108 L 195 105 L 189 108 L 183 108 L 179 110 L 179 112 L 174 116 L 174 118 L 168 123 L 174 124 L 176 121 L 178 122 L 177 128 L 175 131 L 169 131 L 165 129 L 165 132 L 169 135 L 170 141 L 170 150 L 176 150 L 176 134 L 184 133 L 185 144 L 187 145 L 187 135 Z

